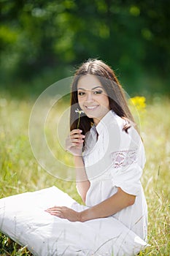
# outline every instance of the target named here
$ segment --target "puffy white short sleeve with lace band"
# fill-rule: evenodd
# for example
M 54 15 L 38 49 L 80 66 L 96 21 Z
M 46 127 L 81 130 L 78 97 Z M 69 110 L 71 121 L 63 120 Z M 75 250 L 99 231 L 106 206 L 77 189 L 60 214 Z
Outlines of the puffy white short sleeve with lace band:
M 112 185 L 137 196 L 141 190 L 140 178 L 145 162 L 144 147 L 136 130 L 131 129 L 130 134 L 123 137 L 122 147 L 111 152 Z

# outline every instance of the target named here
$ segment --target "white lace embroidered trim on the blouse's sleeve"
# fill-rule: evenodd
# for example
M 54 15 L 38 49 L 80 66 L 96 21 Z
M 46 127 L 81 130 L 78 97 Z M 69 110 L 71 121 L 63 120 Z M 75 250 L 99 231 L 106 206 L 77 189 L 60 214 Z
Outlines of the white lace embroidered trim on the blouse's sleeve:
M 136 161 L 137 152 L 134 150 L 122 150 L 111 153 L 112 167 L 120 168 L 131 165 Z

